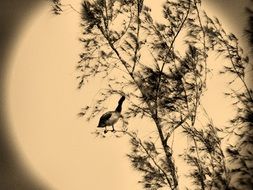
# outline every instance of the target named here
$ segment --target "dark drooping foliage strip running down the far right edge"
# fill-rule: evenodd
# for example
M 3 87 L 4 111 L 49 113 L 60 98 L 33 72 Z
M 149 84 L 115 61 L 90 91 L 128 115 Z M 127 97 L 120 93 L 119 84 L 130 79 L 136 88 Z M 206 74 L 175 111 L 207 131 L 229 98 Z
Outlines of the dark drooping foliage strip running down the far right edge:
M 208 21 L 207 30 L 212 31 L 209 39 L 213 42 L 214 49 L 229 60 L 220 73 L 233 77 L 229 81 L 232 90 L 225 93 L 234 101 L 237 112 L 230 121 L 231 125 L 227 127 L 227 133 L 236 139 L 227 149 L 233 180 L 230 186 L 233 189 L 249 189 L 253 186 L 253 93 L 247 84 L 245 72 L 246 69 L 252 69 L 252 64 L 244 56 L 235 35 L 227 34 L 218 19 Z

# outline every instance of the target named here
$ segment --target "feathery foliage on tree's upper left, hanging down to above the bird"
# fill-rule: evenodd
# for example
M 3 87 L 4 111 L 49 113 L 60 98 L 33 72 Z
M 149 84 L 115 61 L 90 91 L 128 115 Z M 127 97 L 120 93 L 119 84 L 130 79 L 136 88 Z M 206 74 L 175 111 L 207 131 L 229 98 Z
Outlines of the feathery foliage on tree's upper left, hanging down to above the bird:
M 101 90 L 100 99 L 96 101 L 96 107 L 92 110 L 85 109 L 81 115 L 86 115 L 88 111 L 90 115 L 88 120 L 95 117 L 102 111 L 102 102 L 108 99 L 111 94 L 125 94 L 129 96 L 127 89 L 131 82 L 129 76 L 122 71 L 124 66 L 119 64 L 118 50 L 116 44 L 129 36 L 128 29 L 130 28 L 134 13 L 133 1 L 96 1 L 90 3 L 84 1 L 82 4 L 82 27 L 83 37 L 80 39 L 83 44 L 83 53 L 80 54 L 80 61 L 77 69 L 80 75 L 79 88 L 82 88 L 90 78 L 101 76 L 108 80 L 108 87 Z M 115 23 L 121 21 L 121 26 L 117 27 Z M 131 26 L 132 27 L 132 26 Z M 118 48 L 117 48 L 118 49 Z M 116 50 L 116 51 L 115 51 Z M 115 78 L 115 70 L 122 71 L 120 78 Z M 115 90 L 117 89 L 117 90 Z

